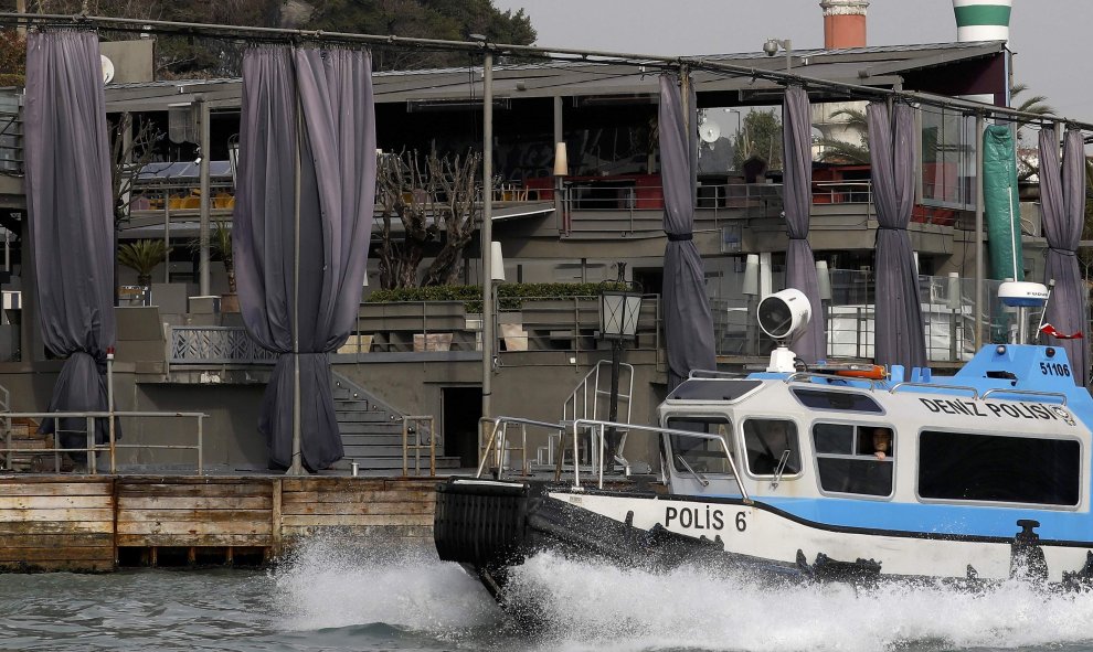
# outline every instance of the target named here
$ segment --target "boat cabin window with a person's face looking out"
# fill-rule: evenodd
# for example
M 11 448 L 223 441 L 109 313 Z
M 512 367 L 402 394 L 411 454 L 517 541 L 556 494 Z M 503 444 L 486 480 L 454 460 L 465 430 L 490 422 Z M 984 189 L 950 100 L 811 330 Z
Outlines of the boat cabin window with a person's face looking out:
M 891 495 L 895 451 L 884 426 L 816 424 L 813 446 L 820 489 L 836 493 Z

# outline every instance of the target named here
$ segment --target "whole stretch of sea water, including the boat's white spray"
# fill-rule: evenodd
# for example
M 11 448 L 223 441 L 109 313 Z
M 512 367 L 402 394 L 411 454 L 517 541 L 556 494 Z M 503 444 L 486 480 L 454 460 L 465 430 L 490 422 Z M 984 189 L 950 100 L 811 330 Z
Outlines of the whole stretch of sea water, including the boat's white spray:
M 316 538 L 268 570 L 0 575 L 0 650 L 1093 651 L 1093 594 L 784 588 L 539 555 L 512 577 L 523 633 L 423 547 Z

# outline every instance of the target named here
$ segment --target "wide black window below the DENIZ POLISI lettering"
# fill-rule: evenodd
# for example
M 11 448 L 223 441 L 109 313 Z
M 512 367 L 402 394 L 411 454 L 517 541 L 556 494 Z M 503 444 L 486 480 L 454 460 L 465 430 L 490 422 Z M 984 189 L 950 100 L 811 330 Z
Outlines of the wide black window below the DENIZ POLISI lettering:
M 923 431 L 919 495 L 924 499 L 1076 505 L 1082 447 L 1073 439 Z

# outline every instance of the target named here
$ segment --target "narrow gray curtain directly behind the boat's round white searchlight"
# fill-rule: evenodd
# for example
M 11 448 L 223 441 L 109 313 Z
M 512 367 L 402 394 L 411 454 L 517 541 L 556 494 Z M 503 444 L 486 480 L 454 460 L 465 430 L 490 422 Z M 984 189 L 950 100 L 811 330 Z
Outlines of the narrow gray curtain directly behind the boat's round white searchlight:
M 797 288 L 808 297 L 813 319 L 793 344 L 805 362 L 827 357 L 824 339 L 824 306 L 816 280 L 816 260 L 808 244 L 808 218 L 813 207 L 813 120 L 808 94 L 800 86 L 786 88 L 782 100 L 782 151 L 785 161 L 786 287 Z

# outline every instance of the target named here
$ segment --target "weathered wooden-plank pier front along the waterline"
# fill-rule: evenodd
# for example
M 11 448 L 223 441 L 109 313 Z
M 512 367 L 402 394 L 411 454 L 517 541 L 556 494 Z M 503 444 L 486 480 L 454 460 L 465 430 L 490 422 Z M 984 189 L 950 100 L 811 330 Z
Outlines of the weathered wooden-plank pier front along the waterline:
M 431 543 L 435 479 L 0 477 L 0 571 L 272 562 L 338 533 Z

